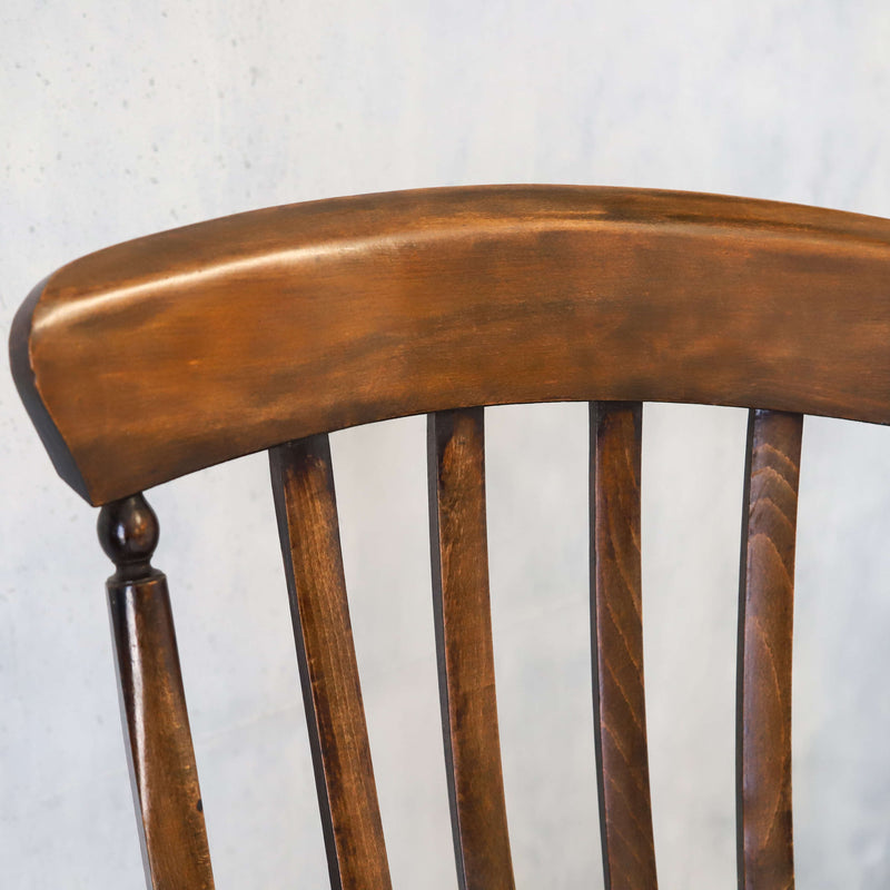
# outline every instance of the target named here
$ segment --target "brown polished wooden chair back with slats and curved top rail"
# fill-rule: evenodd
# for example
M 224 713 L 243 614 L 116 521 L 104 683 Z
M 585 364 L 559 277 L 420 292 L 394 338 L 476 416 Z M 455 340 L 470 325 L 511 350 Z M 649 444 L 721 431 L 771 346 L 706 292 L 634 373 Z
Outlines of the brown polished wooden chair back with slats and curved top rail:
M 791 626 L 803 414 L 890 423 L 890 221 L 710 195 L 490 187 L 217 219 L 63 267 L 11 358 L 59 472 L 101 505 L 155 888 L 210 888 L 158 536 L 140 492 L 269 449 L 332 886 L 389 877 L 327 433 L 429 415 L 433 602 L 459 886 L 513 887 L 487 590 L 484 409 L 591 403 L 605 884 L 655 888 L 642 661 L 643 400 L 751 407 L 738 669 L 741 888 L 793 883 Z

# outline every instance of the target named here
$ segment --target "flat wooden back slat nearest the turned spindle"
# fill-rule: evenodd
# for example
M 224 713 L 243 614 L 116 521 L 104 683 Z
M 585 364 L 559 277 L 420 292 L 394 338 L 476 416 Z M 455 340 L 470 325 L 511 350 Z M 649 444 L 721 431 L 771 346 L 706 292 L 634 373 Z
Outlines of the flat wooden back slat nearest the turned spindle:
M 388 890 L 326 435 L 269 452 L 318 803 L 335 890 Z

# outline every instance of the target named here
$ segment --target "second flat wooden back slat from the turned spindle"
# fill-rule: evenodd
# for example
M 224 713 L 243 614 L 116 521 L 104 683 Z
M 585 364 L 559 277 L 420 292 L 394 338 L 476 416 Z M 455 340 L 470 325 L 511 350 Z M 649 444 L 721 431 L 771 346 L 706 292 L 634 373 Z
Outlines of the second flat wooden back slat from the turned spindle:
M 433 605 L 462 890 L 512 890 L 494 682 L 483 408 L 428 419 Z

